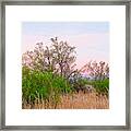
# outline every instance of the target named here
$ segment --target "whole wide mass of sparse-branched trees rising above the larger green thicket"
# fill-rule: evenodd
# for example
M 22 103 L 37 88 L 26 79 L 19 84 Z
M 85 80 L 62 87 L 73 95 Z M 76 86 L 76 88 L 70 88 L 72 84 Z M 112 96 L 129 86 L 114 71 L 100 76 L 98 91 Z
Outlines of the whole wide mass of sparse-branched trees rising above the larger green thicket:
M 33 51 L 23 53 L 22 63 L 33 70 L 50 71 L 69 78 L 75 67 L 75 47 L 69 46 L 67 41 L 58 41 L 57 37 L 50 40 L 50 47 L 38 43 Z

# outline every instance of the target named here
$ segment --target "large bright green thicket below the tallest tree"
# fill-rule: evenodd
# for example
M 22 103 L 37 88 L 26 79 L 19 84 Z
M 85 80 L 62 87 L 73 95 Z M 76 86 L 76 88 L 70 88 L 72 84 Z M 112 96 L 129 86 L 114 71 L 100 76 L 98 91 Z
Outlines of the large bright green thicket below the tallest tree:
M 56 105 L 60 102 L 60 94 L 70 93 L 69 82 L 52 72 L 40 72 L 27 67 L 22 69 L 22 93 L 26 102 L 35 99 L 49 100 Z

